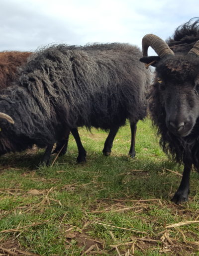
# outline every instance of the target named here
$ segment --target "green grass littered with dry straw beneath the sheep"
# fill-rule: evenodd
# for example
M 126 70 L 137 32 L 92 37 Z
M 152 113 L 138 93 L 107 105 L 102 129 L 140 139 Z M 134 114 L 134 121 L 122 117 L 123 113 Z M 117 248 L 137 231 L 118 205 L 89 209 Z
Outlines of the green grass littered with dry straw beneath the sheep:
M 172 203 L 182 167 L 154 133 L 149 120 L 138 124 L 134 159 L 128 125 L 108 157 L 107 134 L 80 129 L 85 164 L 76 164 L 72 136 L 53 167 L 37 166 L 37 149 L 1 157 L 0 255 L 199 256 L 199 176 L 192 172 L 189 203 Z

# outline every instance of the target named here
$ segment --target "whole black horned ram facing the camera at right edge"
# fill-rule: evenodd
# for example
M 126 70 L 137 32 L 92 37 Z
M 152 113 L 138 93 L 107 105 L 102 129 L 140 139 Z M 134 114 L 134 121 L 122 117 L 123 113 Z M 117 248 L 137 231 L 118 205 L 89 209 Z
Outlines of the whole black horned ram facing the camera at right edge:
M 151 46 L 158 56 L 147 57 Z M 199 19 L 178 27 L 167 43 L 148 34 L 142 40 L 141 62 L 156 67 L 149 110 L 164 152 L 184 164 L 183 178 L 173 197 L 187 201 L 192 165 L 199 171 Z

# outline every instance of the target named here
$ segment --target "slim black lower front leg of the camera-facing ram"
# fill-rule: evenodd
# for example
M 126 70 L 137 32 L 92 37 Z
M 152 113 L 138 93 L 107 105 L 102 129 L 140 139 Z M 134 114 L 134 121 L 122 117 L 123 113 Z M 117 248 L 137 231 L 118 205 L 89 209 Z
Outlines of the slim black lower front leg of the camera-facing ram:
M 190 192 L 190 172 L 191 172 L 192 164 L 186 162 L 183 171 L 183 178 L 178 188 L 177 192 L 175 193 L 172 201 L 176 204 L 179 204 L 184 201 L 188 201 L 188 195 Z

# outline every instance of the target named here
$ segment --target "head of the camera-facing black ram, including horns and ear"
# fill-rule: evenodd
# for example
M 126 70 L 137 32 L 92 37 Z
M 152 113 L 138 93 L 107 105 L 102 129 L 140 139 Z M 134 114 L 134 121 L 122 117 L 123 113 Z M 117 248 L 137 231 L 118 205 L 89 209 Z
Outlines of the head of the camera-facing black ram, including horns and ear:
M 149 47 L 158 56 L 148 57 Z M 143 58 L 140 61 L 156 67 L 160 102 L 166 112 L 168 129 L 176 135 L 187 136 L 199 117 L 199 40 L 189 52 L 173 50 L 160 37 L 147 34 L 142 39 Z

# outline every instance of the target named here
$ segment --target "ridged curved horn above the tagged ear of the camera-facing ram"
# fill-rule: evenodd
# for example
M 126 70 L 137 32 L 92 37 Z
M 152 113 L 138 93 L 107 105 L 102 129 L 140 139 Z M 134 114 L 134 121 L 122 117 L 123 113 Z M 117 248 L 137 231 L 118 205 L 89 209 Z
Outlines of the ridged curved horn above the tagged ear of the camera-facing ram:
M 149 46 L 158 54 L 160 58 L 166 55 L 174 55 L 174 52 L 169 48 L 168 44 L 160 37 L 153 34 L 146 34 L 142 38 L 142 53 L 144 57 L 147 57 Z

